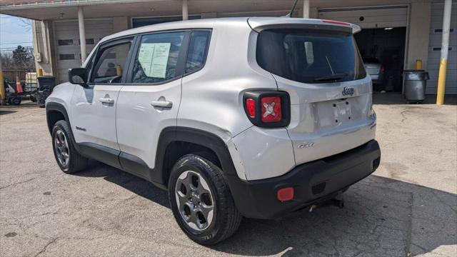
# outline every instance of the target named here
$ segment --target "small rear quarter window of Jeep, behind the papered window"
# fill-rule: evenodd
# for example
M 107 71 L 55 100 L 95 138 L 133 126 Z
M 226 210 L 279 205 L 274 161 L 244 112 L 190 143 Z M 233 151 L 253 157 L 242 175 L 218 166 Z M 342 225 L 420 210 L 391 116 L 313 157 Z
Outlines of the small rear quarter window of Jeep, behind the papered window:
M 196 71 L 204 66 L 210 34 L 210 31 L 192 32 L 191 44 L 187 54 L 186 73 Z

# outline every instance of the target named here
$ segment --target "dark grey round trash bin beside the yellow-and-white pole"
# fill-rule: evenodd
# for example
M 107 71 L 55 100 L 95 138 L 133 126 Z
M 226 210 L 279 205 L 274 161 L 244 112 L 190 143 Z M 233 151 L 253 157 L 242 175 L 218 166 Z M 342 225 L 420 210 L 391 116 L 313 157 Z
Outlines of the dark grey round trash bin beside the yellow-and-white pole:
M 418 103 L 426 99 L 428 79 L 428 72 L 424 70 L 403 71 L 403 89 L 408 103 Z

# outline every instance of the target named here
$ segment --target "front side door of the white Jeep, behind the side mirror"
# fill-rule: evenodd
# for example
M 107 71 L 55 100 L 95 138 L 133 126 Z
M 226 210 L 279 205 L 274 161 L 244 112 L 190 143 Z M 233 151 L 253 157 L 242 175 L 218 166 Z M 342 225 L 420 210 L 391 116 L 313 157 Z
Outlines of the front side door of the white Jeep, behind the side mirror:
M 116 101 L 125 76 L 132 39 L 99 46 L 88 65 L 88 83 L 72 98 L 71 126 L 81 151 L 91 158 L 119 166 L 116 136 Z

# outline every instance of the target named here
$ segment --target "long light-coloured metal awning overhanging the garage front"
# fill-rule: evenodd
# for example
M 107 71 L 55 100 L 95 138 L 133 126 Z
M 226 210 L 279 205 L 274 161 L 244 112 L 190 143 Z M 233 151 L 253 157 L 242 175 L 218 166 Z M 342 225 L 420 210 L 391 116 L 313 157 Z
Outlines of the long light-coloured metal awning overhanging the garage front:
M 407 4 L 412 0 L 346 0 L 344 6 Z M 433 0 L 436 1 L 436 0 Z M 286 15 L 293 0 L 189 0 L 189 14 L 218 13 L 218 16 Z M 311 6 L 338 7 L 341 1 L 311 0 Z M 181 0 L 3 0 L 0 13 L 35 20 L 77 19 L 84 6 L 86 19 L 116 16 L 176 16 L 182 14 Z M 301 7 L 297 7 L 299 14 Z M 301 16 L 301 14 L 300 14 Z

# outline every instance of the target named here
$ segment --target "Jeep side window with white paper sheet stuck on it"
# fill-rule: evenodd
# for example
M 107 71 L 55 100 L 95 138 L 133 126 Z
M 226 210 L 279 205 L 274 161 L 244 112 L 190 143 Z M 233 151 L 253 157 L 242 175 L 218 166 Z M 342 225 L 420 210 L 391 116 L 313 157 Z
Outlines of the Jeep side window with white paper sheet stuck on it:
M 131 82 L 160 83 L 174 79 L 184 34 L 167 32 L 142 36 Z

